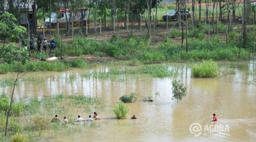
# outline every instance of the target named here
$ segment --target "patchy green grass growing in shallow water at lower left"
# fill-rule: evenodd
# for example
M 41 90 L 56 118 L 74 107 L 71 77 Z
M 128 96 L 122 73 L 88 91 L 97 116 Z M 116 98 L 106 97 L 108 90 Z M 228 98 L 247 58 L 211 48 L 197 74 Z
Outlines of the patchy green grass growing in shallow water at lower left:
M 0 95 L 0 128 L 5 130 L 6 111 L 9 106 L 9 97 Z M 65 104 L 65 105 L 64 105 Z M 42 99 L 29 98 L 14 102 L 12 113 L 9 117 L 8 137 L 0 137 L 1 142 L 9 142 L 11 136 L 25 137 L 27 141 L 38 141 L 44 131 L 53 131 L 52 135 L 65 133 L 73 135 L 76 132 L 82 132 L 84 126 L 90 127 L 93 124 L 83 123 L 80 127 L 67 127 L 62 125 L 62 118 L 66 116 L 70 125 L 78 125 L 74 121 L 79 114 L 73 114 L 72 110 L 76 109 L 85 113 L 92 114 L 92 109 L 101 111 L 103 108 L 103 100 L 99 97 L 69 95 L 64 94 L 52 95 L 51 97 L 43 97 Z M 52 118 L 58 114 L 61 119 L 60 123 L 50 123 Z M 85 114 L 80 114 L 83 117 Z M 0 132 L 0 136 L 4 135 L 4 131 Z M 14 139 L 15 137 L 12 137 Z

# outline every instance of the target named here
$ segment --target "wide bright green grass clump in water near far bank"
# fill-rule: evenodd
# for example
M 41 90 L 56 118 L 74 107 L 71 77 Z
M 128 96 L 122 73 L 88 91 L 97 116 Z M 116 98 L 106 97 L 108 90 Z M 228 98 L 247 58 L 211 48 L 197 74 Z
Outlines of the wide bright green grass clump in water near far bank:
M 216 62 L 209 60 L 202 64 L 195 64 L 192 67 L 192 75 L 198 78 L 214 78 L 219 75 L 219 69 Z

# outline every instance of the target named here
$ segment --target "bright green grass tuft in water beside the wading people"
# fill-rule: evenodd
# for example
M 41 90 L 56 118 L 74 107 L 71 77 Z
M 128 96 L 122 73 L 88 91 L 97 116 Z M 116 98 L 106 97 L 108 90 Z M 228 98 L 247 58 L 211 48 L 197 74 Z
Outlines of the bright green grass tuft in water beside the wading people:
M 113 111 L 116 114 L 116 117 L 118 119 L 124 119 L 126 118 L 126 115 L 129 112 L 129 109 L 126 105 L 124 105 L 123 102 L 119 101 L 118 105 L 114 107 Z

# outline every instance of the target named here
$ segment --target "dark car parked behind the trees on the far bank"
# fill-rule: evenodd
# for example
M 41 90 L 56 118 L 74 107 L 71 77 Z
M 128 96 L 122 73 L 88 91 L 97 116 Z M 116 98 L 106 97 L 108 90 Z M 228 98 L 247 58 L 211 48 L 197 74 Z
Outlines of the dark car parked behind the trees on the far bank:
M 179 12 L 180 12 L 180 18 L 181 19 L 186 19 L 186 17 L 185 17 L 185 10 L 180 9 Z M 188 10 L 186 10 L 186 14 L 187 14 L 187 18 L 191 17 L 190 12 Z M 162 19 L 164 21 L 166 21 L 167 20 L 167 16 L 168 16 L 168 21 L 178 20 L 178 10 L 174 9 L 173 11 L 167 13 L 167 15 L 164 14 Z

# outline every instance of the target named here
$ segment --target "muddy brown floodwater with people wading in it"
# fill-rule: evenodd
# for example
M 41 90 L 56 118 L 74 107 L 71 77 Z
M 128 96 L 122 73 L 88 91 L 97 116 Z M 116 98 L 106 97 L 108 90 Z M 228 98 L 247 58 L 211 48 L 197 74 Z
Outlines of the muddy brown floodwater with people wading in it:
M 225 64 L 225 63 L 224 63 Z M 233 64 L 238 64 L 234 62 Z M 241 63 L 239 63 L 241 64 Z M 44 78 L 43 83 L 21 82 L 15 90 L 15 99 L 54 95 L 58 93 L 100 96 L 106 107 L 98 111 L 102 120 L 97 127 L 81 126 L 82 132 L 66 135 L 52 134 L 47 130 L 40 141 L 50 142 L 170 142 L 170 141 L 256 141 L 256 62 L 242 62 L 245 69 L 220 67 L 218 78 L 193 78 L 190 65 L 173 66 L 179 71 L 180 79 L 187 87 L 187 96 L 178 104 L 172 99 L 173 78 L 153 78 L 148 75 L 119 75 L 115 79 L 82 78 L 81 73 L 93 70 L 107 71 L 108 66 L 95 69 L 71 69 L 63 72 L 29 72 L 26 76 Z M 121 67 L 121 66 L 120 66 Z M 74 77 L 75 76 L 75 77 Z M 0 75 L 10 78 L 11 74 Z M 73 79 L 69 79 L 72 78 Z M 11 92 L 11 87 L 0 87 L 0 92 Z M 131 92 L 153 96 L 154 102 L 139 98 L 126 104 L 130 109 L 128 118 L 117 120 L 112 112 L 119 97 Z M 97 110 L 96 110 L 97 111 Z M 209 122 L 216 113 L 219 121 Z M 89 114 L 74 110 L 74 118 Z M 133 114 L 137 120 L 129 119 Z M 62 116 L 61 116 L 62 117 Z M 191 127 L 201 125 L 202 130 Z M 221 130 L 207 131 L 207 128 L 225 126 Z M 75 127 L 70 125 L 69 127 Z M 210 129 L 211 129 L 210 128 Z M 194 133 L 201 135 L 195 137 Z

